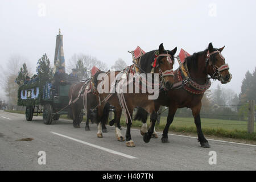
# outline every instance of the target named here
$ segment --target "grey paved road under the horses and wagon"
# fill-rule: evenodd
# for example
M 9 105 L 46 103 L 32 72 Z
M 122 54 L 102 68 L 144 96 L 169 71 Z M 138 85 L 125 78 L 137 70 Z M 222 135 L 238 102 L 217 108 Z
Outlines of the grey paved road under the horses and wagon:
M 23 114 L 0 111 L 0 170 L 256 170 L 254 145 L 209 140 L 211 148 L 201 148 L 197 139 L 179 135 L 170 135 L 169 144 L 160 138 L 144 143 L 132 130 L 136 147 L 128 148 L 117 141 L 114 127 L 97 138 L 96 125 L 91 131 L 81 126 L 65 119 L 44 125 L 42 117 L 28 122 Z M 17 140 L 22 138 L 33 140 Z M 46 152 L 45 165 L 38 164 L 39 151 Z M 209 164 L 210 151 L 217 164 Z

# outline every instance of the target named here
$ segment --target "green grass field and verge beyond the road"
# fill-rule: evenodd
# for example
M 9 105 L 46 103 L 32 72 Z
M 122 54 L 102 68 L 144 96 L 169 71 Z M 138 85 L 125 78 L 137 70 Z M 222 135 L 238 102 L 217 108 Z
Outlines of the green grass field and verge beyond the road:
M 24 114 L 24 111 L 6 110 L 12 113 Z M 61 115 L 61 118 L 67 119 L 67 115 Z M 85 121 L 84 117 L 84 121 Z M 166 125 L 167 117 L 161 117 L 159 125 L 156 125 L 156 130 L 161 132 Z M 150 118 L 147 120 L 148 125 L 150 124 Z M 121 117 L 121 125 L 126 127 L 125 117 Z M 133 127 L 141 127 L 141 121 L 133 121 Z M 216 137 L 227 137 L 237 139 L 247 139 L 256 141 L 256 123 L 254 124 L 254 133 L 247 133 L 247 122 L 246 121 L 234 121 L 225 119 L 208 119 L 201 118 L 201 127 L 206 135 L 212 135 Z M 183 133 L 197 133 L 196 126 L 193 118 L 181 118 L 175 117 L 170 131 L 177 131 Z

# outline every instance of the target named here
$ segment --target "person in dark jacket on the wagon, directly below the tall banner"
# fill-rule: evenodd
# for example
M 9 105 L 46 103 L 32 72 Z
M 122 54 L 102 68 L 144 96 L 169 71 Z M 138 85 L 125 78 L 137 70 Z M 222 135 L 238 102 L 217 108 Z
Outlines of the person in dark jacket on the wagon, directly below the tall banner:
M 65 85 L 67 82 L 67 74 L 64 71 L 64 67 L 59 67 L 58 71 L 53 76 L 53 85 L 55 86 L 55 96 L 59 95 L 60 85 Z

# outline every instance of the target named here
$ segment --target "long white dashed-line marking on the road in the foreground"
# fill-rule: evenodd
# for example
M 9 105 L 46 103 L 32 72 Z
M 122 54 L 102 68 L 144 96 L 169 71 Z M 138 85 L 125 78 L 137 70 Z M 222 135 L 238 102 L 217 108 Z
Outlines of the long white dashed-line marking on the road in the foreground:
M 64 137 L 64 138 L 68 138 L 68 139 L 74 140 L 74 141 L 79 142 L 79 143 L 82 143 L 82 144 L 86 144 L 86 145 L 91 146 L 91 147 L 94 147 L 94 148 L 98 148 L 98 149 L 100 149 L 100 150 L 109 152 L 109 153 L 111 153 L 111 154 L 121 155 L 121 156 L 123 156 L 123 157 L 125 157 L 125 158 L 129 158 L 129 159 L 137 159 L 137 158 L 135 158 L 134 156 L 127 155 L 127 154 L 123 154 L 123 153 L 121 153 L 121 152 L 117 152 L 117 151 L 111 150 L 111 149 L 109 149 L 109 148 L 97 146 L 96 144 L 84 142 L 84 141 L 82 141 L 82 140 L 75 139 L 75 138 L 72 138 L 72 137 L 68 137 L 68 136 L 66 136 L 66 135 L 62 135 L 62 134 L 55 133 L 55 132 L 52 132 L 52 131 L 51 131 L 51 133 L 52 133 L 52 134 L 55 134 L 55 135 L 59 135 L 60 137 Z

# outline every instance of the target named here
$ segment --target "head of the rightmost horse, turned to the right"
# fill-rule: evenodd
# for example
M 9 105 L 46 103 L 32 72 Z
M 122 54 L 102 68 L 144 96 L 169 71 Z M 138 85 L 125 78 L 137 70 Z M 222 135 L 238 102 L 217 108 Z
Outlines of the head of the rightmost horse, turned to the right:
M 206 59 L 207 73 L 214 80 L 221 81 L 222 84 L 230 82 L 232 78 L 232 75 L 229 73 L 229 65 L 225 63 L 225 58 L 221 55 L 224 47 L 216 49 L 213 48 L 212 43 L 209 43 Z

